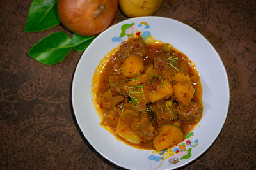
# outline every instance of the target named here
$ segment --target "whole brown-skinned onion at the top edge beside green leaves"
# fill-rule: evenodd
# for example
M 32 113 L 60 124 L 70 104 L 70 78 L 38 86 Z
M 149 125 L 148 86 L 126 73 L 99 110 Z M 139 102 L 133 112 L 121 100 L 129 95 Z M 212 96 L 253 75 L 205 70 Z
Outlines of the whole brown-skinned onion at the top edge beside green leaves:
M 105 10 L 98 13 L 100 4 Z M 116 17 L 118 0 L 58 0 L 58 14 L 67 29 L 83 36 L 104 31 Z

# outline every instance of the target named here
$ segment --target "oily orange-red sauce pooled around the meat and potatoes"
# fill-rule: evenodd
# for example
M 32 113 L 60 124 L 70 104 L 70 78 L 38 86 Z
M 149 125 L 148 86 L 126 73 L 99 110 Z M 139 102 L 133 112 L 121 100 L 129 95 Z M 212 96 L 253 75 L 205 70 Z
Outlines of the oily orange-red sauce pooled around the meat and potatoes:
M 154 62 L 154 57 L 156 57 L 158 53 L 163 52 L 163 50 L 161 50 L 162 46 L 163 46 L 163 43 L 160 41 L 154 41 L 153 43 L 151 42 L 151 43 L 145 44 L 145 47 L 147 49 L 147 56 L 145 56 L 143 59 L 145 67 L 150 67 L 150 65 L 152 65 L 152 62 Z M 200 76 L 198 74 L 198 71 L 196 70 L 195 64 L 191 62 L 191 60 L 189 60 L 189 58 L 186 55 L 184 55 L 184 53 L 173 48 L 173 46 L 170 46 L 170 52 L 172 53 L 173 56 L 179 58 L 179 65 L 177 66 L 179 68 L 179 71 L 188 73 L 188 75 L 191 78 L 191 81 L 193 82 L 193 88 L 195 91 L 193 94 L 192 101 L 202 106 L 202 85 L 200 83 Z M 133 144 L 121 138 L 120 136 L 118 136 L 115 131 L 116 124 L 111 124 L 111 122 L 109 122 L 109 118 L 106 118 L 109 113 L 109 109 L 104 108 L 102 106 L 101 98 L 102 98 L 102 94 L 108 91 L 109 76 L 122 74 L 122 70 L 120 69 L 122 66 L 122 60 L 120 58 L 121 58 L 120 46 L 118 46 L 115 49 L 113 49 L 111 52 L 109 52 L 108 55 L 104 57 L 104 59 L 102 59 L 93 76 L 92 99 L 93 99 L 94 106 L 97 112 L 99 113 L 99 117 L 101 120 L 100 125 L 104 127 L 107 131 L 111 132 L 111 134 L 113 134 L 116 137 L 116 139 L 126 143 L 127 145 L 130 145 L 132 147 L 139 148 L 139 149 L 152 150 L 154 149 L 154 145 L 152 141 L 141 142 L 140 144 Z M 120 106 L 119 105 L 116 106 L 117 109 L 118 107 L 120 110 L 122 110 L 123 106 L 122 104 L 120 104 Z M 119 112 L 122 112 L 122 111 L 119 111 Z M 117 115 L 118 114 L 120 115 L 121 113 L 117 113 Z M 114 122 L 116 121 L 115 119 L 116 117 L 113 117 Z M 184 132 L 184 136 L 186 136 L 186 134 L 188 134 L 189 132 L 193 131 L 193 129 L 198 124 L 198 122 L 192 122 L 192 123 L 184 122 L 179 120 L 179 118 L 176 118 L 175 120 L 172 120 L 172 121 L 178 122 L 180 124 L 179 128 L 182 130 L 182 132 Z M 170 124 L 173 124 L 173 122 L 171 122 Z M 157 129 L 157 131 L 159 131 L 159 129 Z

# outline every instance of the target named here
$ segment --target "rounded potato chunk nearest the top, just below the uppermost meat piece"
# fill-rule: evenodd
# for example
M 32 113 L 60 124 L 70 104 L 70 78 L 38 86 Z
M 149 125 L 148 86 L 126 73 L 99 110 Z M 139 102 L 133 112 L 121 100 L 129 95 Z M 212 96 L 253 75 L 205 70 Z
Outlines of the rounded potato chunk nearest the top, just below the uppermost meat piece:
M 122 74 L 127 78 L 136 78 L 144 71 L 143 57 L 130 55 L 122 64 Z

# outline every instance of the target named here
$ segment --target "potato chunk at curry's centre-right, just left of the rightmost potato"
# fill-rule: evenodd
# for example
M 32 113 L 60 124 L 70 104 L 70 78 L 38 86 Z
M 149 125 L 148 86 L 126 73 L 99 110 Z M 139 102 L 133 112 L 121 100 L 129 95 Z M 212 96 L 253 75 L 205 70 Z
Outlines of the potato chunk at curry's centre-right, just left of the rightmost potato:
M 157 90 L 153 90 L 150 94 L 150 101 L 152 103 L 162 99 L 168 99 L 173 95 L 173 87 L 170 81 L 165 81 L 164 85 Z

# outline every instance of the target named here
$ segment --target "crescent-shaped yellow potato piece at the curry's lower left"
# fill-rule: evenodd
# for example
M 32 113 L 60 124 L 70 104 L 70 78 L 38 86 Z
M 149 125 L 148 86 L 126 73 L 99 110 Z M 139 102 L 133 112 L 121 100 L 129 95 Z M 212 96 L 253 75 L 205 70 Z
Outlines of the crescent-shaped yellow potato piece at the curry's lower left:
M 138 117 L 138 113 L 134 110 L 124 110 L 120 115 L 118 124 L 116 126 L 116 134 L 134 144 L 140 143 L 140 137 L 134 131 L 132 131 L 130 124 L 131 120 L 135 117 Z

